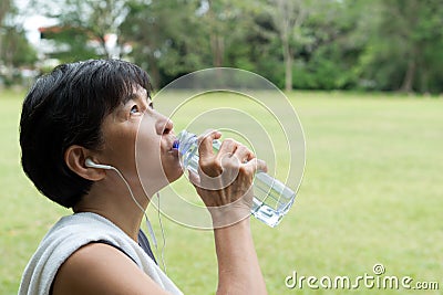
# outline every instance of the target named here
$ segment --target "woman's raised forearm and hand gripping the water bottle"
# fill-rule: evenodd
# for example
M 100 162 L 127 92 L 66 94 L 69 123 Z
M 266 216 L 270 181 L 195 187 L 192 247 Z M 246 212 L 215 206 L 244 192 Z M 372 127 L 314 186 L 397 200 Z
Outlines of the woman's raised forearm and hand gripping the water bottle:
M 223 141 L 214 154 L 213 140 L 220 136 L 212 131 L 198 138 L 198 175 L 189 173 L 213 218 L 217 294 L 267 294 L 247 219 L 254 198 L 254 175 L 267 167 L 233 139 Z

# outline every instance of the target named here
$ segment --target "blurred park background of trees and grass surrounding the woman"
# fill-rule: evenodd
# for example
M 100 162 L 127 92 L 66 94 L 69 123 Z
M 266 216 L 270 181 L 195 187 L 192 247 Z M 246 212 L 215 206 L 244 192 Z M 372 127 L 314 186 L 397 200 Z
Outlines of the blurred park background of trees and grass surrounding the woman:
M 442 0 L 0 0 L 0 294 L 17 294 L 41 239 L 71 214 L 22 172 L 25 92 L 60 63 L 96 57 L 141 65 L 155 89 L 230 66 L 285 92 L 303 127 L 307 165 L 278 228 L 251 220 L 269 294 L 442 294 Z M 173 98 L 156 108 L 174 109 L 183 96 Z M 286 152 L 287 143 L 272 144 L 276 157 Z M 147 211 L 162 244 L 161 214 Z M 167 274 L 185 294 L 214 294 L 212 232 L 162 217 Z M 375 264 L 412 277 L 414 289 L 285 284 L 293 272 L 374 275 Z

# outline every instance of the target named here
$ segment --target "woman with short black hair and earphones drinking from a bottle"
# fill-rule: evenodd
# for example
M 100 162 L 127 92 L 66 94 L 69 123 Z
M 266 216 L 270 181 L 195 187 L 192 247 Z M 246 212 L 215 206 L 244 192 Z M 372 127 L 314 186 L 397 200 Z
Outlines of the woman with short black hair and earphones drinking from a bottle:
M 99 60 L 60 65 L 29 92 L 20 120 L 23 170 L 74 213 L 45 235 L 19 294 L 182 294 L 140 231 L 151 196 L 183 173 L 173 123 L 153 108 L 150 89 L 138 66 Z M 199 138 L 200 171 L 190 176 L 214 223 L 217 293 L 266 294 L 249 225 L 250 185 L 266 165 L 230 139 L 215 155 L 219 137 Z M 136 170 L 138 140 L 147 186 Z M 222 175 L 234 176 L 230 185 L 212 189 Z

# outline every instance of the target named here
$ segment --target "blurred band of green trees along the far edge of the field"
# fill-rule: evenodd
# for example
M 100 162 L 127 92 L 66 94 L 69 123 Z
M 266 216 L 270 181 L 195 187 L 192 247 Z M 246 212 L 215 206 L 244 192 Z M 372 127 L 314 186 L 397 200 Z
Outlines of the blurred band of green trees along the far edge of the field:
M 117 57 L 156 88 L 233 66 L 286 91 L 443 91 L 441 0 L 1 0 L 0 24 L 3 87 Z

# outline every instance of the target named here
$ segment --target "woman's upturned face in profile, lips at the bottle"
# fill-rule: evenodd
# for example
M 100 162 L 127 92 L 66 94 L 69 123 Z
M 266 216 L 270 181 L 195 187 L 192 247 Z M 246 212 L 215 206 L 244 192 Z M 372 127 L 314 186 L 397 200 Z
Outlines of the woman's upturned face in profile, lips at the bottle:
M 152 196 L 178 179 L 182 167 L 173 123 L 153 108 L 145 88 L 134 87 L 132 97 L 103 122 L 100 161 L 117 168 L 134 186 Z

